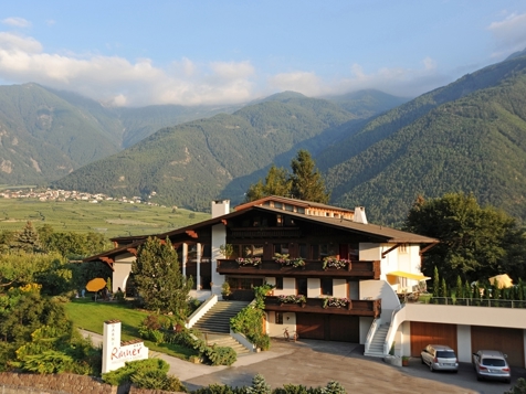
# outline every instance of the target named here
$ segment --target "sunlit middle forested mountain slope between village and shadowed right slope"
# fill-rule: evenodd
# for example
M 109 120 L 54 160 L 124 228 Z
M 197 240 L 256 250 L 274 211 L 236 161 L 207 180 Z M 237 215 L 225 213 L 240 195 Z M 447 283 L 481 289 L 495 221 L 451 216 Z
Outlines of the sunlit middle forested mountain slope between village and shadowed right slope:
M 143 195 L 209 209 L 235 178 L 254 173 L 283 153 L 354 116 L 303 95 L 277 95 L 232 115 L 165 128 L 123 152 L 88 164 L 54 183 L 111 195 Z M 233 196 L 235 198 L 235 196 Z

